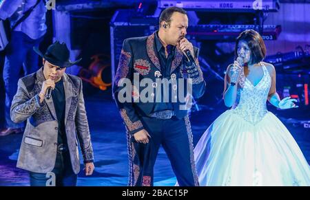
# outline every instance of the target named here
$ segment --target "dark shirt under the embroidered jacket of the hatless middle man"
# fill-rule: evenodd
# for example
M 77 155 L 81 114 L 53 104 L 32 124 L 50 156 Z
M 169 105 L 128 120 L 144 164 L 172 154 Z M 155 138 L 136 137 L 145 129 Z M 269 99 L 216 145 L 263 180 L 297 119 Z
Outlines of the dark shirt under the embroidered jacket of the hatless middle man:
M 161 74 L 162 74 L 161 78 L 167 78 L 167 80 L 170 80 L 171 65 L 176 55 L 176 47 L 172 45 L 167 45 L 168 56 L 166 57 L 165 47 L 163 46 L 158 37 L 158 32 L 156 32 L 155 34 L 155 47 L 158 53 L 159 62 L 161 63 Z M 160 86 L 158 85 L 157 87 Z M 169 87 L 171 87 L 171 85 L 169 85 Z M 153 112 L 174 109 L 171 101 L 172 93 L 170 91 L 171 91 L 170 89 L 165 89 L 163 85 L 161 85 L 161 102 L 155 102 Z M 166 93 L 166 95 L 167 93 L 169 93 L 169 102 L 163 102 L 164 93 Z M 158 95 L 160 94 L 156 93 L 156 96 Z

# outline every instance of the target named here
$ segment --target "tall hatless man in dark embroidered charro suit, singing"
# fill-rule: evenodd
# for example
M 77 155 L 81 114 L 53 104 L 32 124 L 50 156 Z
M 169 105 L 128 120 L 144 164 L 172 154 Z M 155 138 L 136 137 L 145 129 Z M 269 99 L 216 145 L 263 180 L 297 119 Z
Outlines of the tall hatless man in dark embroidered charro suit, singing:
M 185 101 L 180 100 L 181 96 L 173 95 L 177 89 L 178 94 L 187 93 L 182 92 L 185 87 L 181 82 L 185 80 L 192 80 L 194 98 L 203 96 L 205 91 L 203 72 L 198 64 L 198 48 L 193 47 L 185 38 L 187 26 L 185 10 L 166 8 L 159 18 L 158 31 L 150 36 L 127 38 L 123 43 L 114 82 L 114 98 L 127 130 L 130 186 L 153 186 L 153 168 L 161 145 L 169 157 L 178 184 L 198 186 L 193 137 L 187 109 L 184 109 Z M 196 61 L 187 60 L 183 55 L 186 50 Z M 139 82 L 139 78 L 143 80 Z M 119 96 L 125 88 L 122 82 L 127 80 L 134 82 L 133 85 L 129 84 L 132 92 L 128 92 L 128 100 L 133 96 L 133 102 L 124 101 Z M 149 80 L 152 82 L 148 82 Z M 158 84 L 161 80 L 169 80 L 175 84 L 172 87 L 164 85 L 161 90 L 161 84 Z M 139 89 L 135 82 L 140 83 Z M 125 85 L 127 87 L 127 82 Z M 143 87 L 146 85 L 152 85 L 154 91 L 149 93 L 151 98 L 147 98 L 147 101 L 142 100 L 145 90 L 149 91 L 147 87 Z M 165 101 L 163 93 L 168 93 L 171 98 Z

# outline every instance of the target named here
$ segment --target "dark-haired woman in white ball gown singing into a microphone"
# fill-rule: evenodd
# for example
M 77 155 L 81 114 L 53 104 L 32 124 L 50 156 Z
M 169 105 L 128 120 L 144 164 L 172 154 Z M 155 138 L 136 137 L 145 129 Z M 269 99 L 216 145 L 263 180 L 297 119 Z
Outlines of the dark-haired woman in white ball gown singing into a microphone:
M 194 150 L 200 186 L 310 186 L 310 168 L 287 128 L 267 111 L 296 100 L 280 100 L 276 71 L 262 62 L 266 47 L 254 30 L 238 36 L 234 64 L 225 76 L 225 111 Z M 243 66 L 244 64 L 244 67 Z

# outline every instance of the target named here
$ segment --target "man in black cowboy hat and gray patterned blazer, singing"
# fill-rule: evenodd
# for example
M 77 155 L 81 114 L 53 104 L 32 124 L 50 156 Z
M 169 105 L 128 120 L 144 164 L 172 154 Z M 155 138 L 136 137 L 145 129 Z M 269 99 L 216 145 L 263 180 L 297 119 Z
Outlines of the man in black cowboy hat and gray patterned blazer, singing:
M 17 167 L 30 172 L 31 186 L 76 186 L 80 170 L 78 141 L 85 175 L 92 175 L 94 157 L 85 112 L 81 78 L 65 74 L 70 62 L 65 43 L 53 43 L 42 54 L 43 67 L 19 79 L 10 115 L 27 120 Z M 48 88 L 52 89 L 48 98 Z

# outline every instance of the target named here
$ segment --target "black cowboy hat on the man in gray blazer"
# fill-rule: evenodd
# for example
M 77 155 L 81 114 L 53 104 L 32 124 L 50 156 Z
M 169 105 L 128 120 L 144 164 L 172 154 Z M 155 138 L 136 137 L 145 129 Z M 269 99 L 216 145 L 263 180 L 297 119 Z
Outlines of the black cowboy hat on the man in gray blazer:
M 82 60 L 82 58 L 80 58 L 79 60 L 71 62 L 69 60 L 70 52 L 67 45 L 65 45 L 65 43 L 59 43 L 59 41 L 56 41 L 55 43 L 50 45 L 44 55 L 38 47 L 33 47 L 33 50 L 34 52 L 39 54 L 39 56 L 41 56 L 45 60 L 48 60 L 49 63 L 52 63 L 53 65 L 61 68 L 71 67 L 72 65 L 75 65 Z

